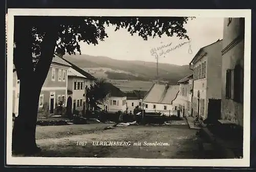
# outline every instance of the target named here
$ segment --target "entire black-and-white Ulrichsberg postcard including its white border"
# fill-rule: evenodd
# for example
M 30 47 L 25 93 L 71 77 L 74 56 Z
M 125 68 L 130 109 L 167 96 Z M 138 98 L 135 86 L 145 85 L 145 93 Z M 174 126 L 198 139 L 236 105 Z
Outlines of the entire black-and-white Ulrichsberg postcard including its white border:
M 7 164 L 249 166 L 250 17 L 8 9 Z

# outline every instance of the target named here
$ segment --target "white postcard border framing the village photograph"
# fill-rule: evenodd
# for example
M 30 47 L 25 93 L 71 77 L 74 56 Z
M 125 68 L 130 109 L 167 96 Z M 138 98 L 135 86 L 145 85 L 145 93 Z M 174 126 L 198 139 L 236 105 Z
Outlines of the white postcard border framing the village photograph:
M 12 157 L 12 66 L 15 15 L 45 16 L 195 16 L 245 17 L 244 52 L 244 149 L 243 159 L 137 159 L 137 158 L 46 158 Z M 185 10 L 185 9 L 8 9 L 7 23 L 7 149 L 8 165 L 111 165 L 111 166 L 225 166 L 250 165 L 250 56 L 251 10 Z

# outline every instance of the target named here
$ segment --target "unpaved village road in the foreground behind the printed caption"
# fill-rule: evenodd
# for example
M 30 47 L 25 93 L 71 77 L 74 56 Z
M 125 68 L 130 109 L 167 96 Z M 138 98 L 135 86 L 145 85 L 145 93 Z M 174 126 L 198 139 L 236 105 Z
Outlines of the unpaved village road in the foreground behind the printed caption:
M 108 158 L 200 158 L 197 130 L 187 125 L 115 127 L 79 135 L 37 139 L 42 157 L 108 157 Z M 77 142 L 87 142 L 77 145 Z M 131 141 L 130 146 L 95 146 L 93 141 Z M 146 142 L 168 145 L 144 146 Z M 141 146 L 133 143 L 141 142 Z

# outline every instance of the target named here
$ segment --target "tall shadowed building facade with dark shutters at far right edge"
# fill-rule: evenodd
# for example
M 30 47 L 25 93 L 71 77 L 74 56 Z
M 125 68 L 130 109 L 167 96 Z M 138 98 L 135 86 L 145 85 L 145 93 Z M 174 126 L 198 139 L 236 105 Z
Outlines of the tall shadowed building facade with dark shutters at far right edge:
M 222 46 L 221 118 L 243 126 L 244 18 L 225 18 Z

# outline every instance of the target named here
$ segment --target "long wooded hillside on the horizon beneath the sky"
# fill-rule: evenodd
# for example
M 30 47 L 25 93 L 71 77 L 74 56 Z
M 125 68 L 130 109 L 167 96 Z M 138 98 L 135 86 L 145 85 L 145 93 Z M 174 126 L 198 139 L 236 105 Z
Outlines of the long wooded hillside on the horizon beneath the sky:
M 156 63 L 154 62 L 116 60 L 109 57 L 89 55 L 65 55 L 63 58 L 90 72 L 96 78 L 140 81 L 150 81 L 156 78 Z M 159 63 L 158 67 L 159 78 L 168 80 L 170 83 L 176 83 L 192 72 L 189 65 L 179 66 Z

